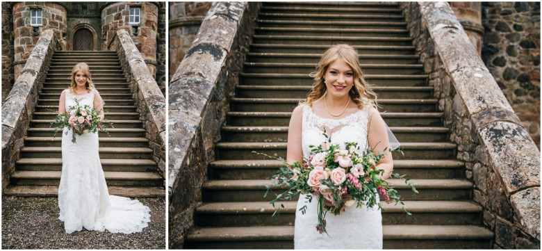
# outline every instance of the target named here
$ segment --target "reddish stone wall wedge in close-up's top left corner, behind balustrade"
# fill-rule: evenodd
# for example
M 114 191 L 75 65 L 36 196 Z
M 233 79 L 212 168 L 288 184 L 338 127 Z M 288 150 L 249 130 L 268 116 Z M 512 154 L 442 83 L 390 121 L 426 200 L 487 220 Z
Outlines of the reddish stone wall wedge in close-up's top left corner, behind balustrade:
M 192 46 L 209 8 L 210 2 L 170 2 L 170 79 Z

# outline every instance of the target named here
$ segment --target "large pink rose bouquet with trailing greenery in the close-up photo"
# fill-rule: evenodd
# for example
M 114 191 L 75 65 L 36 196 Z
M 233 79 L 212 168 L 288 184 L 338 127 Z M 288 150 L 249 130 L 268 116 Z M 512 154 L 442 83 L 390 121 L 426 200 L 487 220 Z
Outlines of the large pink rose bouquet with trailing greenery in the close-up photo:
M 381 159 L 386 156 L 385 151 L 375 153 L 372 149 L 361 152 L 357 143 L 345 143 L 345 149 L 338 144 L 331 144 L 331 138 L 324 131 L 326 140 L 318 146 L 310 145 L 311 154 L 303 159 L 303 163 L 288 164 L 284 159 L 278 159 L 286 164 L 279 168 L 277 174 L 272 176 L 272 184 L 267 186 L 265 197 L 273 187 L 286 187 L 288 190 L 278 194 L 271 204 L 279 200 L 292 200 L 299 194 L 308 195 L 309 202 L 313 197 L 318 200 L 318 225 L 316 229 L 320 234 L 326 232 L 325 216 L 327 212 L 339 215 L 345 207 L 374 207 L 381 209 L 378 196 L 386 203 L 402 204 L 407 214 L 411 214 L 405 207 L 397 190 L 381 179 L 384 170 L 377 169 Z M 390 150 L 392 151 L 392 150 Z M 400 152 L 400 150 L 395 150 Z M 257 153 L 258 154 L 258 153 Z M 263 154 L 265 155 L 265 154 Z M 272 156 L 269 156 L 273 158 Z M 276 159 L 276 158 L 273 158 Z M 405 183 L 414 193 L 416 188 L 404 178 L 395 173 L 394 178 L 404 179 Z M 379 195 L 378 195 L 379 194 Z M 284 205 L 281 205 L 284 207 Z M 274 211 L 275 218 L 280 209 Z M 306 205 L 299 209 L 306 212 Z

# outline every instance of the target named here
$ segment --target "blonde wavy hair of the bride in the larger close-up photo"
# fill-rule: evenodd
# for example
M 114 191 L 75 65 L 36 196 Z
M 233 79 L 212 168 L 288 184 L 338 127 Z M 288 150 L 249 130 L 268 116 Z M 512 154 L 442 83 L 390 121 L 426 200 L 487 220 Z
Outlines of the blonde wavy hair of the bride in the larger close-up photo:
M 338 59 L 343 60 L 350 66 L 354 74 L 354 86 L 352 86 L 352 89 L 348 92 L 352 101 L 354 101 L 360 109 L 366 104 L 376 107 L 377 94 L 372 91 L 369 83 L 363 78 L 363 72 L 359 66 L 359 55 L 356 49 L 348 44 L 335 44 L 322 54 L 320 62 L 318 62 L 318 65 L 316 66 L 316 72 L 311 72 L 311 74 L 309 74 L 309 76 L 314 79 L 313 88 L 311 89 L 311 92 L 309 92 L 309 96 L 306 97 L 306 100 L 301 102 L 301 104 L 312 106 L 315 100 L 318 100 L 325 95 L 327 87 L 324 83 L 324 75 L 329 65 Z

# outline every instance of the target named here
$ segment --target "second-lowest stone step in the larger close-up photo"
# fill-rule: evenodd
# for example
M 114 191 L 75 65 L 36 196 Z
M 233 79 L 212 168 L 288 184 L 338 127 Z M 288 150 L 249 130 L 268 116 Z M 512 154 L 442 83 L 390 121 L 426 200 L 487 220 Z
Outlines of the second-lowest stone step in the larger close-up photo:
M 281 204 L 284 208 L 281 208 Z M 278 202 L 215 202 L 196 208 L 199 227 L 251 227 L 295 225 L 297 201 Z M 481 223 L 482 207 L 466 201 L 407 201 L 407 216 L 400 204 L 381 203 L 383 225 L 469 225 Z M 275 210 L 280 215 L 273 221 Z

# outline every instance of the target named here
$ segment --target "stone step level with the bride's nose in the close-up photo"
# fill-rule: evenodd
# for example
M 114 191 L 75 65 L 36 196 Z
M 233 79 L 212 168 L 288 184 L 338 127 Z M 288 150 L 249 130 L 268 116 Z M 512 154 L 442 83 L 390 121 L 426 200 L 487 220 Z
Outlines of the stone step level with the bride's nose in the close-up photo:
M 241 73 L 240 84 L 248 86 L 312 86 L 313 78 L 306 74 Z M 426 74 L 365 75 L 373 86 L 427 86 Z

